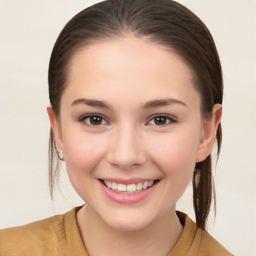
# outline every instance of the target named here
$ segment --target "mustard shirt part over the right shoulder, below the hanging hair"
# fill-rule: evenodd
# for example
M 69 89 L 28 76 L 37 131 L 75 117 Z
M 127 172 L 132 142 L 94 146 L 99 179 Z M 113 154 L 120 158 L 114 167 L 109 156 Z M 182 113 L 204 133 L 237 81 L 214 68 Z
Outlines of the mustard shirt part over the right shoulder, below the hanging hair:
M 184 228 L 177 244 L 173 248 L 175 253 L 182 249 L 184 255 L 232 256 L 227 249 L 207 231 L 199 228 L 185 213 L 180 211 L 176 213 Z

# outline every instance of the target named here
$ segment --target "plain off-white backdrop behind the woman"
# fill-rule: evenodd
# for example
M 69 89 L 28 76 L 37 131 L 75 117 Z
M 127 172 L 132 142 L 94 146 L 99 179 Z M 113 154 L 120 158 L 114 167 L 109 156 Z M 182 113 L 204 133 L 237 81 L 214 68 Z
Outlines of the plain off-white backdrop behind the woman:
M 64 213 L 83 201 L 65 170 L 47 183 L 47 66 L 64 24 L 97 0 L 0 0 L 0 228 Z M 217 215 L 209 233 L 237 256 L 256 255 L 256 1 L 180 0 L 207 25 L 224 76 Z M 194 219 L 191 185 L 177 209 Z

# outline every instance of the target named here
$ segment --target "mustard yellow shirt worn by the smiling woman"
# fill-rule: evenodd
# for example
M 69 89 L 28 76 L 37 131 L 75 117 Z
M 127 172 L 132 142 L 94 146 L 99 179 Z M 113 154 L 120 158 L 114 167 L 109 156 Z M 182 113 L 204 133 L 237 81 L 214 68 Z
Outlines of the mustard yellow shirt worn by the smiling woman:
M 89 256 L 76 222 L 80 207 L 26 225 L 1 229 L 0 256 Z M 184 229 L 166 256 L 232 255 L 186 214 L 177 211 L 177 215 Z

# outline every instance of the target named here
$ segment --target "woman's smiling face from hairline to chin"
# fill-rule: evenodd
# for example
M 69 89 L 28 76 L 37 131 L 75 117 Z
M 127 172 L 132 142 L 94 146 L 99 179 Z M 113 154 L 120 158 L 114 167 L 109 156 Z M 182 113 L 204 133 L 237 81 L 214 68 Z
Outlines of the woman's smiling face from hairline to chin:
M 74 189 L 116 229 L 174 212 L 195 162 L 210 153 L 189 67 L 132 36 L 74 54 L 55 122 Z

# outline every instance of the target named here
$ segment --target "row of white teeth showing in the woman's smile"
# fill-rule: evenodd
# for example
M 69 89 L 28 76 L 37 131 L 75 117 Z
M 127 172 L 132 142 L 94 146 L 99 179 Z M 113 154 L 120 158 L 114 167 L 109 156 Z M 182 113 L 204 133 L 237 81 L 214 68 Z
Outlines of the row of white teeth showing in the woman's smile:
M 111 182 L 108 180 L 100 179 L 100 181 L 109 189 L 117 192 L 117 193 L 124 193 L 124 194 L 133 194 L 138 193 L 140 191 L 143 191 L 147 189 L 148 187 L 152 186 L 154 183 L 159 181 L 159 179 L 155 180 L 148 180 L 145 182 L 138 182 L 138 183 L 132 183 L 132 184 L 122 184 L 122 183 L 116 183 Z

